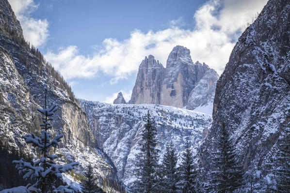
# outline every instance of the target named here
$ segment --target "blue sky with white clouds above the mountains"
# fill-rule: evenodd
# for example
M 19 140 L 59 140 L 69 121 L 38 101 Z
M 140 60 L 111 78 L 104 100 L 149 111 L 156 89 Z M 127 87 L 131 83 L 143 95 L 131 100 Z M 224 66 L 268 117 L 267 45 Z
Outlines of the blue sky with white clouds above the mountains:
M 222 74 L 247 23 L 267 0 L 8 0 L 24 37 L 71 85 L 77 98 L 129 101 L 138 67 L 163 66 L 176 45 Z

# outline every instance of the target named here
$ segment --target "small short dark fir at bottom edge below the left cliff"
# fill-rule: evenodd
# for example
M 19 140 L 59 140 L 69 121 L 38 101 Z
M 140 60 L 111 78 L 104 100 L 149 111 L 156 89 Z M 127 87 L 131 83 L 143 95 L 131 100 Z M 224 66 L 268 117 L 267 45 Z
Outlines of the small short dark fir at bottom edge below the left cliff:
M 94 178 L 93 167 L 91 163 L 88 165 L 86 172 L 84 173 L 85 179 L 81 180 L 82 193 L 103 193 L 102 189 L 96 184 L 96 178 Z

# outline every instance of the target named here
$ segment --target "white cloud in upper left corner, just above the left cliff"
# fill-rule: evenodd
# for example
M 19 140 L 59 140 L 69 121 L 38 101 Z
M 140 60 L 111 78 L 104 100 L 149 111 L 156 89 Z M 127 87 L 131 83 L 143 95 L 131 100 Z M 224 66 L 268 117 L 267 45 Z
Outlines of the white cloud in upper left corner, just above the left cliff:
M 49 36 L 48 21 L 30 16 L 38 8 L 38 4 L 33 0 L 9 0 L 9 3 L 20 21 L 24 38 L 36 47 L 45 44 Z

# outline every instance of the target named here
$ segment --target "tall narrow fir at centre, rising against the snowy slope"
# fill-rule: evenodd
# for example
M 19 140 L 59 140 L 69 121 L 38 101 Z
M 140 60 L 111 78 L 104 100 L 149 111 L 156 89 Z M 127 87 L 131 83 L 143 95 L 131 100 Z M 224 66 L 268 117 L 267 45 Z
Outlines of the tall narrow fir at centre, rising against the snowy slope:
M 159 192 L 158 185 L 158 153 L 157 146 L 157 130 L 154 126 L 155 122 L 152 120 L 149 111 L 144 118 L 145 128 L 142 133 L 142 143 L 140 153 L 137 154 L 137 163 L 135 175 L 137 180 L 135 181 L 133 191 L 136 193 L 157 193 Z

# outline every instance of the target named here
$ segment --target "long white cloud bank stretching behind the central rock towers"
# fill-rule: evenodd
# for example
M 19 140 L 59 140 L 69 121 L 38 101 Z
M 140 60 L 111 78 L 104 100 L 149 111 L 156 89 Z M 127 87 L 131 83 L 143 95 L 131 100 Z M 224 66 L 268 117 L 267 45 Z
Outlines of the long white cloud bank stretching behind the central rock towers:
M 252 21 L 266 1 L 210 0 L 195 12 L 193 30 L 177 27 L 182 22 L 178 18 L 169 22 L 172 25 L 165 30 L 147 33 L 134 30 L 124 41 L 105 39 L 92 57 L 79 54 L 77 46 L 68 46 L 57 53 L 49 51 L 45 57 L 66 79 L 89 78 L 101 72 L 113 76 L 113 84 L 136 73 L 141 60 L 149 54 L 165 66 L 172 48 L 183 45 L 191 50 L 193 61 L 205 62 L 221 74 L 244 24 Z

